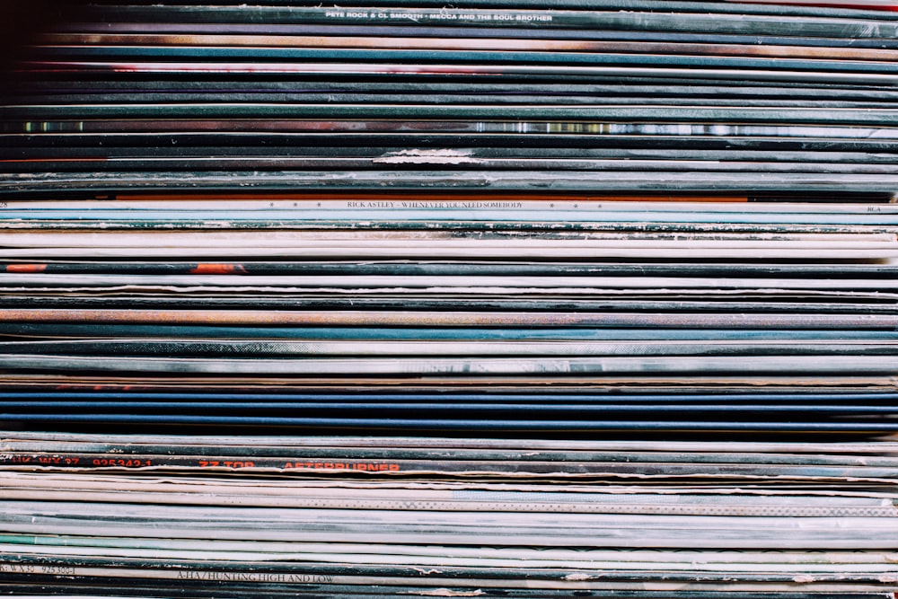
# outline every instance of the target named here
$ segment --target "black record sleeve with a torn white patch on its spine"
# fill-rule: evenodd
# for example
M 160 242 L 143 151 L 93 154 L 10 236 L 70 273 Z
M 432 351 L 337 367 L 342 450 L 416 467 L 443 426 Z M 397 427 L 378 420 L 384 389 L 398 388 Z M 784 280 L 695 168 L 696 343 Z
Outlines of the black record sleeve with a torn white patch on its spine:
M 40 145 L 40 154 L 38 154 L 38 149 L 37 147 L 35 147 L 31 151 L 32 154 L 35 155 L 35 157 L 27 159 L 23 158 L 21 154 L 13 152 L 13 149 L 9 146 L 6 146 L 0 147 L 0 160 L 3 161 L 2 167 L 7 170 L 12 170 L 13 168 L 27 170 L 28 161 L 36 163 L 35 170 L 37 170 L 41 165 L 57 165 L 60 170 L 73 170 L 77 167 L 84 167 L 85 161 L 92 161 L 93 163 L 95 163 L 92 164 L 92 166 L 97 169 L 107 168 L 115 165 L 121 165 L 128 168 L 136 168 L 141 164 L 143 164 L 145 168 L 150 168 L 153 166 L 164 166 L 167 164 L 188 165 L 190 163 L 207 163 L 209 159 L 198 154 L 212 151 L 213 150 L 211 148 L 204 145 L 192 147 L 188 146 L 186 148 L 180 147 L 155 149 L 150 147 L 112 146 L 104 149 L 104 153 L 102 154 L 102 158 L 104 158 L 104 160 L 101 160 L 101 156 L 96 153 L 97 151 L 95 149 L 65 145 Z M 701 166 L 702 168 L 708 170 L 729 169 L 733 171 L 746 171 L 752 169 L 762 170 L 770 168 L 773 170 L 779 169 L 780 171 L 804 170 L 805 172 L 813 172 L 815 168 L 814 163 L 817 163 L 816 168 L 819 169 L 835 169 L 843 172 L 850 171 L 852 169 L 858 170 L 858 172 L 863 172 L 864 169 L 867 169 L 869 172 L 877 172 L 877 170 L 883 170 L 894 165 L 895 163 L 894 156 L 889 156 L 888 154 L 862 154 L 859 152 L 839 151 L 773 152 L 763 149 L 745 151 L 715 149 L 701 150 L 689 147 L 671 147 L 668 149 L 656 148 L 642 150 L 626 147 L 582 147 L 551 149 L 548 147 L 444 147 L 432 148 L 429 150 L 402 150 L 390 147 L 365 148 L 343 147 L 340 145 L 321 145 L 317 147 L 312 153 L 308 150 L 303 149 L 296 151 L 295 149 L 286 147 L 272 148 L 252 147 L 244 145 L 238 147 L 229 147 L 227 149 L 227 152 L 227 156 L 220 156 L 220 160 L 223 164 L 258 163 L 260 166 L 267 165 L 272 168 L 284 168 L 284 165 L 308 167 L 316 164 L 318 166 L 324 167 L 329 165 L 339 166 L 352 164 L 357 164 L 359 166 L 373 166 L 375 164 L 389 163 L 396 165 L 428 163 L 436 165 L 439 163 L 444 163 L 457 165 L 468 164 L 471 166 L 481 165 L 484 168 L 501 167 L 521 169 L 525 166 L 530 166 L 541 168 L 564 167 L 569 170 L 589 170 L 603 168 L 613 170 L 616 166 L 619 167 L 620 170 L 620 167 L 626 166 L 624 161 L 632 161 L 633 163 L 629 166 L 642 166 L 646 170 L 652 170 L 661 167 L 677 170 Z M 779 162 L 774 162 L 774 158 Z M 46 166 L 44 168 L 46 168 Z M 264 194 L 260 194 L 260 196 L 262 195 Z M 297 196 L 297 199 L 300 199 L 298 198 L 298 196 L 300 196 L 301 194 L 295 195 Z M 539 199 L 538 197 L 527 197 L 528 195 L 533 196 L 534 194 L 518 194 L 514 199 L 517 201 L 533 201 Z M 543 194 L 542 197 L 545 197 L 547 195 L 548 194 Z M 599 194 L 595 195 L 599 196 Z M 431 194 L 428 199 L 430 199 L 430 201 L 439 201 L 439 199 L 435 196 L 436 194 Z M 472 197 L 467 199 L 472 203 L 477 201 L 478 199 L 480 199 L 480 201 L 491 200 L 497 202 L 503 199 L 502 196 L 503 194 L 497 193 L 496 198 Z M 568 198 L 571 200 L 575 200 L 577 199 L 577 196 L 571 193 L 568 195 Z M 585 201 L 585 195 L 581 196 L 580 198 Z M 739 200 L 737 198 L 742 199 Z M 865 196 L 863 194 L 850 194 L 845 192 L 844 196 L 841 198 L 841 202 L 863 202 L 865 198 L 869 203 L 885 204 L 886 199 L 889 198 L 889 196 L 887 194 L 879 194 L 878 197 L 876 194 L 868 194 Z M 368 201 L 373 201 L 374 199 L 376 199 L 376 196 L 374 195 L 374 193 L 371 193 L 367 197 L 360 195 L 358 199 L 362 201 L 364 201 L 365 199 L 367 199 Z M 411 198 L 404 199 L 410 200 Z M 451 198 L 445 198 L 444 201 L 449 199 Z M 559 195 L 559 199 L 564 198 Z M 596 197 L 595 199 L 599 200 L 602 198 Z M 817 198 L 805 198 L 800 194 L 793 194 L 791 198 L 788 194 L 784 194 L 783 196 L 770 199 L 765 199 L 760 195 L 749 197 L 747 194 L 743 194 L 742 196 L 739 196 L 737 194 L 733 194 L 730 196 L 724 194 L 707 194 L 703 198 L 700 196 L 689 196 L 686 194 L 682 194 L 682 196 L 678 196 L 676 198 L 658 198 L 652 197 L 648 194 L 639 197 L 638 194 L 630 194 L 629 197 L 627 195 L 621 195 L 618 198 L 614 198 L 613 196 L 607 196 L 606 198 L 608 202 L 645 202 L 647 204 L 647 207 L 653 208 L 656 208 L 654 204 L 657 204 L 661 201 L 677 202 L 682 203 L 682 205 L 688 205 L 690 202 L 702 202 L 712 206 L 714 203 L 718 202 L 766 202 L 767 204 L 770 204 L 770 206 L 768 206 L 770 210 L 776 209 L 776 207 L 773 206 L 774 203 L 788 204 L 790 200 L 792 202 L 810 202 L 814 200 L 821 203 L 827 202 L 829 204 L 832 204 L 832 209 L 836 209 L 839 203 L 838 201 L 836 201 L 836 199 L 837 198 L 827 198 L 823 193 L 819 194 Z M 225 197 L 223 197 L 222 200 L 225 201 Z M 84 201 L 85 203 L 89 202 L 89 198 L 84 198 L 84 200 L 81 201 Z M 159 198 L 158 204 L 163 203 L 163 198 Z M 236 204 L 236 202 L 233 203 Z M 561 202 L 559 202 L 559 204 L 560 203 Z M 571 203 L 573 204 L 574 202 Z M 13 205 L 15 204 L 17 204 L 17 202 L 13 202 Z M 120 206 L 124 206 L 125 202 L 119 200 L 117 204 Z M 143 201 L 141 202 L 141 204 L 149 206 L 150 202 Z M 194 202 L 191 202 L 191 204 L 193 206 L 201 206 L 203 205 L 203 201 L 197 199 Z M 242 205 L 245 206 L 252 206 L 252 204 L 253 203 L 249 199 L 247 199 L 245 202 L 242 202 Z M 57 206 L 60 207 L 64 205 L 64 202 L 59 202 L 57 204 Z M 136 205 L 135 207 L 139 205 L 140 204 Z M 40 202 L 40 204 L 33 206 L 51 207 L 53 206 L 53 204 L 49 200 L 45 200 Z M 90 206 L 90 204 L 85 204 L 85 206 Z

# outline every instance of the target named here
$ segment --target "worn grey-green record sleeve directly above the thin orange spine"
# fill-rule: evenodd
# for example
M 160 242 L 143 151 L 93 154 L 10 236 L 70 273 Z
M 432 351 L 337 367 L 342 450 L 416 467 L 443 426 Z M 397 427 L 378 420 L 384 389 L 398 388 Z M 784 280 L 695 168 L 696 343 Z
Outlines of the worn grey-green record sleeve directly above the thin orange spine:
M 724 172 L 478 172 L 478 171 L 331 171 L 331 172 L 40 172 L 21 173 L 0 180 L 0 193 L 21 193 L 33 189 L 45 192 L 93 191 L 133 192 L 135 190 L 185 191 L 202 187 L 209 190 L 243 189 L 309 190 L 319 189 L 326 177 L 330 189 L 495 189 L 497 191 L 540 191 L 549 186 L 559 191 L 737 191 L 753 187 L 759 191 L 789 192 L 814 187 L 827 192 L 850 188 L 863 192 L 894 193 L 898 175 L 843 173 L 776 173 L 762 181 L 754 173 Z M 753 183 L 751 181 L 754 181 Z M 33 215 L 31 215 L 33 216 Z M 275 215 L 272 215 L 276 217 Z M 405 215 L 392 213 L 394 218 Z M 438 219 L 437 215 L 419 212 L 418 219 Z M 559 215 L 566 218 L 566 215 Z M 360 213 L 357 218 L 376 218 Z M 504 216 L 493 215 L 492 219 Z M 571 219 L 582 220 L 576 215 Z M 760 219 L 755 216 L 754 221 Z M 878 219 L 878 220 L 877 220 Z M 541 217 L 535 220 L 543 220 Z M 697 220 L 697 219 L 693 219 Z M 818 219 L 822 220 L 822 219 Z M 832 219 L 831 219 L 832 220 Z M 839 223 L 851 225 L 873 221 L 879 216 L 842 218 Z M 680 221 L 682 222 L 682 220 Z M 751 221 L 750 221 L 751 222 Z M 808 219 L 798 220 L 806 224 Z

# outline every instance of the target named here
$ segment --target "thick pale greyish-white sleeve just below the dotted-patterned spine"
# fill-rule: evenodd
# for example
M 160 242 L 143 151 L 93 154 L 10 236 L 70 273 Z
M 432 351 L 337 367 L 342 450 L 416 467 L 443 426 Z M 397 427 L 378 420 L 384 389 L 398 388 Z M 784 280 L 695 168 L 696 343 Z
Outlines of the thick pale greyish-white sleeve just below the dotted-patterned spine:
M 779 502 L 772 499 L 766 503 Z M 137 539 L 426 545 L 535 544 L 547 549 L 683 549 L 688 546 L 693 549 L 793 551 L 826 547 L 851 551 L 891 549 L 894 546 L 889 540 L 890 534 L 894 539 L 894 517 L 887 515 L 783 518 L 770 515 L 734 517 L 726 515 L 726 512 L 724 515 L 624 515 L 427 511 L 427 520 L 409 522 L 409 510 L 402 509 L 145 505 L 139 515 L 121 514 L 119 510 L 119 514 L 107 516 L 110 512 L 114 513 L 119 504 L 4 500 L 2 505 L 4 518 L 0 527 L 4 533 L 24 535 L 57 533 L 92 536 L 99 532 L 102 536 Z M 514 502 L 508 502 L 508 505 L 514 506 Z M 92 522 L 85 523 L 85 517 L 91 518 Z M 276 526 L 272 526 L 272 520 L 277 522 Z M 774 523 L 778 525 L 773 526 Z M 476 539 L 478 533 L 481 535 L 479 540 Z M 649 539 L 637 538 L 645 533 Z M 44 551 L 38 549 L 35 552 Z M 75 549 L 72 553 L 77 556 L 78 550 Z M 184 565 L 187 566 L 186 563 Z M 324 568 L 323 564 L 296 562 L 280 562 L 277 566 L 285 571 Z M 366 568 L 362 564 L 351 567 L 343 563 L 331 568 L 334 573 L 348 574 L 354 568 L 364 571 L 376 567 Z M 447 567 L 433 574 L 445 574 L 447 570 L 453 569 Z M 412 571 L 414 568 L 408 568 L 405 576 Z M 417 574 L 420 576 L 423 573 L 418 571 Z M 508 578 L 519 580 L 539 576 L 535 568 L 508 568 L 505 574 Z M 543 577 L 556 579 L 559 583 L 569 574 L 570 569 L 563 567 L 545 568 L 541 572 Z M 607 574 L 608 576 L 599 579 L 613 577 L 612 571 Z M 725 579 L 726 574 L 726 571 L 720 572 L 719 576 Z M 846 573 L 846 577 L 855 578 L 856 583 L 878 582 L 878 575 L 877 572 L 875 577 L 863 574 L 852 577 Z M 672 576 L 680 578 L 682 582 L 694 580 L 691 572 Z M 646 581 L 656 580 L 656 573 L 647 572 L 640 578 Z M 795 583 L 788 574 L 746 578 Z M 822 576 L 816 578 L 815 582 L 823 582 L 827 578 L 829 577 Z M 836 580 L 848 582 L 844 577 L 838 578 L 838 574 L 832 575 L 832 582 Z

